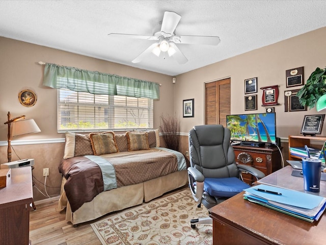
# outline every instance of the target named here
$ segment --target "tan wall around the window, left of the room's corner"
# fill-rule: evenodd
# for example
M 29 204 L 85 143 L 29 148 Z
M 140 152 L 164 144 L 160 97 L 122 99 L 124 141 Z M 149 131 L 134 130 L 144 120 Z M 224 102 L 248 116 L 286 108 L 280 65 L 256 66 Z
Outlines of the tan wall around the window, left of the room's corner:
M 174 84 L 172 77 L 146 71 L 126 65 L 120 65 L 104 60 L 72 54 L 49 47 L 21 42 L 0 37 L 0 163 L 7 162 L 7 113 L 12 117 L 26 115 L 33 118 L 41 133 L 17 137 L 13 140 L 13 147 L 21 158 L 34 158 L 35 179 L 44 182 L 43 168 L 49 167 L 50 176 L 47 178 L 49 194 L 59 194 L 61 176 L 58 164 L 63 157 L 64 143 L 25 144 L 15 145 L 16 140 L 47 140 L 64 139 L 64 134 L 57 133 L 57 90 L 42 86 L 43 68 L 38 62 L 55 63 L 87 70 L 97 70 L 108 74 L 131 77 L 162 84 L 160 86 L 160 100 L 154 101 L 154 128 L 159 127 L 161 114 L 173 114 L 174 111 Z M 37 94 L 37 103 L 33 107 L 24 107 L 18 101 L 18 93 L 23 89 L 31 89 Z M 12 152 L 12 161 L 19 158 Z M 44 192 L 42 184 L 35 184 Z M 34 188 L 35 201 L 44 199 L 43 195 Z

